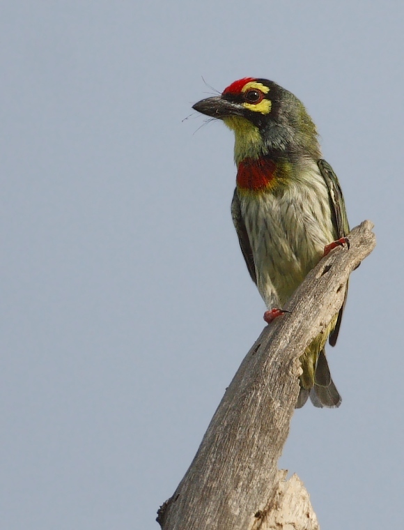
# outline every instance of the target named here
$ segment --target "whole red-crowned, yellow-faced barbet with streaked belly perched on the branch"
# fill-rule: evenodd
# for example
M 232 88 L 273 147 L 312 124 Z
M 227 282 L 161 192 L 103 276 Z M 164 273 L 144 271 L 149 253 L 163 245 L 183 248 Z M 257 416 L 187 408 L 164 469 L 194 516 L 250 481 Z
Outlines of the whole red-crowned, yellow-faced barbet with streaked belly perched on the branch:
M 346 245 L 348 218 L 341 185 L 322 158 L 318 131 L 303 103 L 279 84 L 258 77 L 231 83 L 192 108 L 222 120 L 235 135 L 236 187 L 231 215 L 249 275 L 270 324 L 307 273 L 333 248 Z M 341 395 L 329 372 L 325 343 L 334 346 L 341 309 L 306 347 L 300 393 L 315 407 L 336 408 Z

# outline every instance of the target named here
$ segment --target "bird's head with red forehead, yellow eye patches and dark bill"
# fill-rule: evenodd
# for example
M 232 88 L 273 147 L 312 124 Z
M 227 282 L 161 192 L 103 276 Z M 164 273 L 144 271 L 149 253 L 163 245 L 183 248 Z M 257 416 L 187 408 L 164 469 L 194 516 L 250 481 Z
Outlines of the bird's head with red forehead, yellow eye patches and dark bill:
M 192 108 L 234 131 L 237 163 L 265 155 L 320 158 L 316 126 L 304 105 L 268 79 L 244 77 Z

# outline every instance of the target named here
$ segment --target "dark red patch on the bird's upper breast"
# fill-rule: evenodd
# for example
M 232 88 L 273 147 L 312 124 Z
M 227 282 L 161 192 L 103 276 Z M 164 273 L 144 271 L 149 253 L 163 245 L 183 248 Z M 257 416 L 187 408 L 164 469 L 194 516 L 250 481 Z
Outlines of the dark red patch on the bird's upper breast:
M 269 158 L 244 158 L 238 165 L 238 188 L 250 191 L 265 190 L 274 179 L 277 165 Z

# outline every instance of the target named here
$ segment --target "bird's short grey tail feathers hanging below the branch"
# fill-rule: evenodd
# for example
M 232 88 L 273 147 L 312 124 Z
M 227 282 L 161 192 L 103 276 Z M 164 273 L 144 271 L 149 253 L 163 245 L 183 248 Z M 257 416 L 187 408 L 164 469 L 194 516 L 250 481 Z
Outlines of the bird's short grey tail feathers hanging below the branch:
M 314 385 L 309 388 L 300 387 L 299 397 L 297 398 L 296 409 L 303 407 L 307 399 L 310 396 L 310 400 L 314 407 L 322 409 L 327 407 L 334 409 L 341 404 L 341 395 L 337 391 L 334 381 L 332 381 L 331 374 L 329 373 L 327 358 L 325 357 L 325 349 L 321 349 L 318 354 L 318 360 L 316 364 L 316 372 L 314 374 Z

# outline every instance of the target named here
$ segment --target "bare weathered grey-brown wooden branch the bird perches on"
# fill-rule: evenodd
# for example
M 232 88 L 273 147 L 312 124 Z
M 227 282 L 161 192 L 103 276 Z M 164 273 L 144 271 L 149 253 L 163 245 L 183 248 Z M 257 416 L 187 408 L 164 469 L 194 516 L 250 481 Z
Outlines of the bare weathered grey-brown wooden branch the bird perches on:
M 341 307 L 350 273 L 375 246 L 372 228 L 353 229 L 349 250 L 323 258 L 290 298 L 291 313 L 264 328 L 160 508 L 163 530 L 318 529 L 304 486 L 295 476 L 286 482 L 277 462 L 299 393 L 298 359 Z

